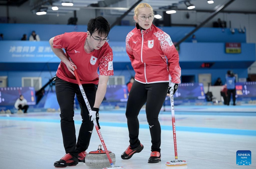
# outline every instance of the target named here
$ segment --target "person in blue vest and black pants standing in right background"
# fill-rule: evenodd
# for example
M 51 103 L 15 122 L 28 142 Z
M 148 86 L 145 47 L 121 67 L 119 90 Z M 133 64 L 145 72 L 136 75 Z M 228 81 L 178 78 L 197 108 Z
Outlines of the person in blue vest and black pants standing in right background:
M 230 97 L 232 93 L 233 105 L 235 106 L 236 105 L 236 77 L 231 70 L 227 71 L 226 83 L 227 83 L 227 89 L 228 89 L 227 105 L 229 106 Z

